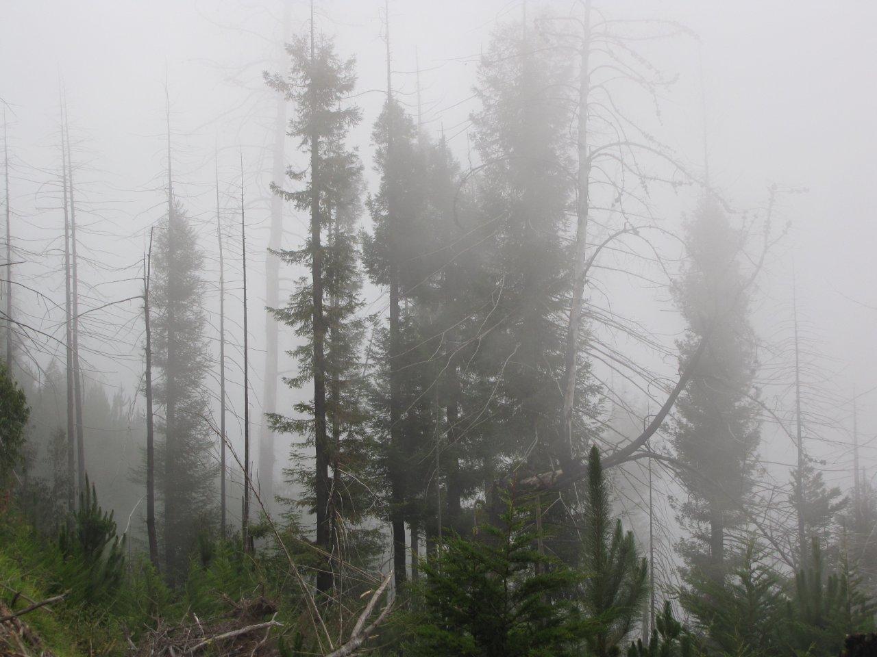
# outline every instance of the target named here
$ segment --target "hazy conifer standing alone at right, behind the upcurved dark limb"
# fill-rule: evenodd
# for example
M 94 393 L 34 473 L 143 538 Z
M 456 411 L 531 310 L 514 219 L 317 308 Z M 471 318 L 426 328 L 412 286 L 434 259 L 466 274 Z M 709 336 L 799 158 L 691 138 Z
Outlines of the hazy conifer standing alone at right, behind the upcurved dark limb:
M 752 401 L 756 357 L 749 300 L 740 257 L 743 236 L 712 195 L 698 202 L 686 227 L 687 270 L 676 289 L 688 322 L 679 347 L 688 357 L 709 343 L 676 403 L 672 443 L 688 492 L 677 511 L 690 533 L 681 543 L 689 567 L 719 575 L 729 532 L 745 524 L 741 512 L 752 492 L 759 423 Z

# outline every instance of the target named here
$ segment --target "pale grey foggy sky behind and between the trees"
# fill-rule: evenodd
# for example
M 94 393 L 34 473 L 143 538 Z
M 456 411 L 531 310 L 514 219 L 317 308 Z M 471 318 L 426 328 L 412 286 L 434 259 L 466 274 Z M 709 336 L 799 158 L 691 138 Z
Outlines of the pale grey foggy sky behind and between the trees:
M 673 83 L 660 91 L 660 118 L 654 107 L 627 107 L 629 115 L 669 145 L 675 155 L 709 180 L 730 202 L 733 221 L 763 217 L 769 190 L 775 186 L 774 225 L 788 233 L 768 255 L 754 294 L 752 323 L 759 336 L 759 362 L 774 362 L 774 347 L 788 337 L 793 280 L 799 314 L 807 321 L 814 347 L 808 359 L 824 392 L 831 427 L 812 427 L 812 456 L 821 460 L 830 484 L 848 486 L 852 478 L 852 398 L 859 395 L 859 444 L 866 477 L 877 475 L 873 438 L 877 427 L 877 278 L 873 245 L 877 244 L 877 75 L 873 53 L 877 35 L 863 29 L 877 19 L 877 6 L 842 2 L 614 2 L 612 18 L 677 21 L 685 30 L 670 39 L 646 43 L 643 52 Z M 572 3 L 536 2 L 567 11 Z M 292 2 L 290 32 L 300 33 L 309 20 L 308 4 Z M 444 132 L 464 169 L 477 164 L 467 132 L 477 107 L 473 87 L 482 49 L 496 21 L 524 11 L 515 2 L 389 3 L 393 31 L 394 83 L 412 114 L 420 114 L 433 138 Z M 363 158 L 367 188 L 377 180 L 368 147 L 372 124 L 385 100 L 382 3 L 370 0 L 317 2 L 318 29 L 336 39 L 339 54 L 356 56 L 355 102 L 363 109 L 350 143 Z M 0 97 L 5 107 L 11 155 L 12 235 L 18 281 L 32 291 L 18 293 L 16 307 L 50 336 L 62 338 L 63 309 L 50 299 L 62 293 L 62 243 L 59 165 L 59 103 L 67 97 L 74 149 L 80 219 L 82 307 L 94 308 L 83 320 L 81 354 L 87 381 L 121 391 L 132 426 L 142 374 L 139 300 L 104 304 L 139 294 L 142 258 L 149 228 L 164 214 L 167 175 L 166 95 L 170 109 L 172 165 L 176 195 L 195 220 L 200 245 L 208 254 L 205 278 L 216 279 L 214 180 L 228 227 L 226 244 L 226 312 L 230 343 L 229 435 L 242 444 L 242 374 L 240 354 L 240 178 L 246 196 L 247 264 L 250 285 L 251 403 L 253 434 L 261 423 L 262 338 L 269 321 L 264 307 L 264 264 L 270 201 L 269 146 L 274 121 L 273 95 L 263 71 L 282 70 L 283 7 L 268 2 L 83 2 L 32 1 L 4 7 L 0 24 L 0 58 L 4 61 Z M 418 73 L 419 68 L 419 73 Z M 291 166 L 302 168 L 306 154 L 287 143 Z M 218 152 L 218 157 L 217 156 Z M 218 173 L 216 171 L 218 159 Z M 280 181 L 276 181 L 280 182 Z M 679 230 L 695 207 L 698 187 L 676 190 L 655 186 L 651 198 L 655 221 Z M 300 244 L 308 216 L 284 206 L 282 244 Z M 364 213 L 365 228 L 369 219 Z M 667 248 L 674 248 L 670 242 Z M 681 249 L 677 246 L 677 255 Z M 281 298 L 300 275 L 282 265 Z M 645 271 L 643 272 L 645 275 Z M 601 272 L 611 291 L 614 311 L 640 322 L 668 352 L 684 329 L 665 289 L 623 272 Z M 46 295 L 47 300 L 42 295 Z M 368 312 L 386 309 L 386 294 L 366 287 Z M 238 300 L 238 301 L 236 301 Z M 203 300 L 212 311 L 217 291 Z M 60 321 L 61 320 L 61 321 Z M 273 321 L 273 320 L 270 320 Z M 281 327 L 281 349 L 296 345 Z M 215 343 L 216 336 L 208 336 Z M 674 378 L 678 362 L 660 350 L 624 345 L 645 367 Z M 34 339 L 35 361 L 47 368 L 63 357 L 61 344 Z M 215 347 L 215 344 L 214 344 Z M 280 370 L 289 376 L 296 365 L 282 356 Z M 596 371 L 601 372 L 599 365 Z M 610 378 L 609 371 L 602 371 Z M 762 399 L 788 394 L 788 381 L 759 373 Z M 625 395 L 649 407 L 649 395 L 634 386 Z M 278 388 L 281 410 L 310 392 Z M 211 407 L 217 411 L 217 386 Z M 652 390 L 652 410 L 662 392 Z M 39 418 L 36 418 L 39 421 Z M 631 419 L 636 424 L 636 419 Z M 794 465 L 791 445 L 766 422 L 761 455 L 778 480 Z M 139 458 L 132 441 L 131 460 L 119 463 L 119 485 Z M 240 451 L 240 447 L 238 448 Z M 277 471 L 289 452 L 289 436 L 279 435 Z M 665 493 L 674 487 L 667 485 Z M 288 491 L 295 494 L 295 491 Z M 631 512 L 635 500 L 629 500 Z M 659 503 L 664 504 L 664 503 Z M 675 535 L 673 513 L 664 508 L 663 530 Z M 132 509 L 120 508 L 125 518 Z M 235 505 L 230 506 L 234 517 Z M 136 515 L 135 515 L 136 518 Z M 136 523 L 135 523 L 136 524 Z M 669 545 L 669 541 L 668 541 Z M 669 554 L 669 553 L 668 553 Z

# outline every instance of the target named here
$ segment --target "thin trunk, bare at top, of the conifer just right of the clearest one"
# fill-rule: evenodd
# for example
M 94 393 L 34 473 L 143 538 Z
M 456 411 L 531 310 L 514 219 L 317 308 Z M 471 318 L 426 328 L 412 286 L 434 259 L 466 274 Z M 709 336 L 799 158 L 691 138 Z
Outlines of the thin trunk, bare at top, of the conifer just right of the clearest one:
M 389 47 L 389 1 L 385 0 L 384 10 L 387 18 L 387 215 L 389 223 L 398 220 L 394 216 L 396 192 L 396 169 L 393 162 L 393 84 L 390 74 Z M 399 381 L 399 253 L 396 230 L 390 230 L 389 264 L 389 422 L 390 422 L 390 463 L 389 484 L 390 521 L 393 534 L 393 577 L 396 588 L 407 579 L 405 572 L 405 517 L 403 504 L 405 491 L 400 450 L 402 449 L 402 408 L 400 404 L 401 385 Z

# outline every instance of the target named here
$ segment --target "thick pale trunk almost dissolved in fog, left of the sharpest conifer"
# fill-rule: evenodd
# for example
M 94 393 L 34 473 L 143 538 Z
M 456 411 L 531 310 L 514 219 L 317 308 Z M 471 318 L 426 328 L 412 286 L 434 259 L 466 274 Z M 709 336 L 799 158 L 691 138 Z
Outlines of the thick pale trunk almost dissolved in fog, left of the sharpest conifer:
M 283 39 L 289 34 L 289 2 L 283 10 Z M 284 150 L 286 145 L 286 99 L 278 92 L 275 109 L 275 138 L 272 153 L 273 180 L 282 180 L 286 165 Z M 279 194 L 271 197 L 271 227 L 268 236 L 268 253 L 265 261 L 265 304 L 269 308 L 280 305 L 280 258 L 275 251 L 281 248 L 283 237 L 283 199 Z M 262 392 L 262 414 L 277 411 L 278 378 L 278 324 L 268 317 L 265 322 L 265 382 Z M 262 419 L 259 433 L 259 486 L 268 509 L 274 502 L 275 435 Z

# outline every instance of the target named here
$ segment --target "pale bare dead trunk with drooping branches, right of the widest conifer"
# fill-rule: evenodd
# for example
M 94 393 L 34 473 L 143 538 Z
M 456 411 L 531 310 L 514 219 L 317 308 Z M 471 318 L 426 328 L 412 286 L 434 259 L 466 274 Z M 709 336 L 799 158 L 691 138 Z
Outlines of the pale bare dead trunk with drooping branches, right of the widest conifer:
M 591 41 L 591 3 L 585 2 L 582 19 L 581 53 L 579 53 L 579 120 L 578 120 L 578 198 L 575 206 L 575 256 L 573 260 L 573 299 L 569 309 L 567 324 L 567 348 L 564 358 L 563 395 L 563 433 L 559 454 L 564 469 L 573 459 L 573 406 L 575 402 L 576 365 L 579 336 L 581 334 L 581 305 L 585 293 L 585 252 L 588 242 L 588 184 L 590 180 L 590 159 L 588 156 L 588 94 L 590 91 L 590 70 L 588 55 Z

